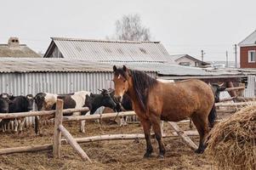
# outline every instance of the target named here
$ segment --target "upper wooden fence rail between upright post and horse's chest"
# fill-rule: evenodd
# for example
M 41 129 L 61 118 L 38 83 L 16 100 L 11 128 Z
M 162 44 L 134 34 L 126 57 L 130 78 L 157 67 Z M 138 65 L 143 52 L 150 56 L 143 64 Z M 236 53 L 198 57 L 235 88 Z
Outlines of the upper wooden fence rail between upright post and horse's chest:
M 82 121 L 82 120 L 94 120 L 94 119 L 105 119 L 111 117 L 120 117 L 120 116 L 134 116 L 136 115 L 134 111 L 124 111 L 119 113 L 105 113 L 105 114 L 97 114 L 97 115 L 86 115 L 86 116 L 64 116 L 63 122 L 68 121 Z

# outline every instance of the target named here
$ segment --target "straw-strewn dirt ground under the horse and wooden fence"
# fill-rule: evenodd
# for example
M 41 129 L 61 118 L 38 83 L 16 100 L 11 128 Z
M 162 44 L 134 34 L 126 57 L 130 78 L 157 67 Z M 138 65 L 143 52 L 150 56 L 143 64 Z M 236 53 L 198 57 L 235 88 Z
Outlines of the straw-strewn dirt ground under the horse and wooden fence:
M 78 133 L 78 124 L 68 122 L 64 124 L 74 137 L 87 137 L 100 134 L 113 133 L 143 133 L 142 127 L 138 124 L 129 124 L 119 127 L 117 124 L 87 122 L 86 134 Z M 43 127 L 43 135 L 36 136 L 32 128 L 28 128 L 24 133 L 2 133 L 0 132 L 0 148 L 14 146 L 26 146 L 32 144 L 50 144 L 53 138 L 53 125 Z M 183 125 L 184 129 L 189 129 L 188 125 Z M 171 127 L 165 123 L 164 133 L 171 132 Z M 198 138 L 192 138 L 196 144 Z M 204 154 L 197 155 L 188 148 L 182 139 L 165 138 L 166 155 L 164 160 L 157 158 L 158 149 L 156 139 L 151 139 L 154 153 L 151 158 L 145 159 L 145 139 L 139 140 L 116 140 L 100 141 L 87 144 L 80 144 L 82 149 L 93 161 L 87 161 L 77 155 L 68 144 L 63 144 L 61 159 L 53 159 L 51 151 L 40 151 L 33 153 L 20 153 L 0 156 L 1 169 L 217 169 Z

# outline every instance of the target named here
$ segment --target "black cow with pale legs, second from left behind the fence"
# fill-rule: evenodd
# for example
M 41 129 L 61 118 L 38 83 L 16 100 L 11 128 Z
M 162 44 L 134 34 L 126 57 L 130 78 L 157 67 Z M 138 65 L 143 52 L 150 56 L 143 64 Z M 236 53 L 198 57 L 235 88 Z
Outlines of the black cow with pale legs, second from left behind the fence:
M 27 94 L 26 96 L 11 96 L 9 97 L 9 113 L 17 113 L 17 112 L 27 112 L 33 110 L 34 99 L 32 94 Z M 20 117 L 14 119 L 14 132 L 22 131 L 26 118 Z

